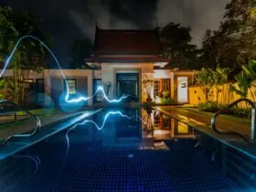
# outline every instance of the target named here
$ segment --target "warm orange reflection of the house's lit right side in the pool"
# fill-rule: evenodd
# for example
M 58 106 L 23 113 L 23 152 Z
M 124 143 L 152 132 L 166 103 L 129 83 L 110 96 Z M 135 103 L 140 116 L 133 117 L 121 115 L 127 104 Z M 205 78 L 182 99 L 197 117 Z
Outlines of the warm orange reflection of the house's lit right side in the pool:
M 195 138 L 194 129 L 185 123 L 165 115 L 164 113 L 153 111 L 151 113 L 142 112 L 145 122 L 143 126 L 144 147 L 165 148 L 165 141 L 173 139 L 191 139 Z

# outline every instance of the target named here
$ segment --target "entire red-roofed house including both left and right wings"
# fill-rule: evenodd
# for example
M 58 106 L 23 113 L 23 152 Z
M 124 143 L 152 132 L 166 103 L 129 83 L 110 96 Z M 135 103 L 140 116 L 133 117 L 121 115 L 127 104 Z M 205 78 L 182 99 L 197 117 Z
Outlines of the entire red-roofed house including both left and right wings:
M 171 100 L 187 103 L 187 86 L 194 72 L 164 69 L 170 62 L 161 56 L 158 28 L 152 30 L 105 30 L 96 27 L 91 58 L 85 62 L 92 69 L 64 69 L 70 97 L 91 96 L 98 86 L 103 86 L 109 99 L 124 94 L 134 101 L 160 101 L 162 93 Z M 5 76 L 11 76 L 6 71 Z M 29 80 L 36 83 L 36 92 L 44 93 L 49 101 L 59 104 L 66 86 L 59 69 L 30 72 Z M 147 83 L 145 83 L 147 82 Z M 151 86 L 150 86 L 151 85 Z M 150 99 L 150 100 L 149 100 Z M 102 101 L 101 92 L 88 104 Z

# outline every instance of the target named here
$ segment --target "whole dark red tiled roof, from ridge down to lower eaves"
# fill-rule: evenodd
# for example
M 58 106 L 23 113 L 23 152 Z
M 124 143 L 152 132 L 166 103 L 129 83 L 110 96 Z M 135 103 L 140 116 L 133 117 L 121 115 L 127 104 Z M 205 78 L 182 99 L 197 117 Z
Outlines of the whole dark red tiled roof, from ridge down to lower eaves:
M 105 30 L 96 27 L 94 50 L 85 62 L 169 62 L 161 57 L 158 29 Z

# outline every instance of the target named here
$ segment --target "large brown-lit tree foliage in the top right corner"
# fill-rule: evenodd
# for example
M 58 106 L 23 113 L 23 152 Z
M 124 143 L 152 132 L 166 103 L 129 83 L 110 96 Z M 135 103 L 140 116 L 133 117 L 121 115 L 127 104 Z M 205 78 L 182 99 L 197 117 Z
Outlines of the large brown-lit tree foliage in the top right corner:
M 206 31 L 203 51 L 209 67 L 219 65 L 235 69 L 234 72 L 249 59 L 255 59 L 255 1 L 232 0 L 226 5 L 226 13 L 219 29 Z

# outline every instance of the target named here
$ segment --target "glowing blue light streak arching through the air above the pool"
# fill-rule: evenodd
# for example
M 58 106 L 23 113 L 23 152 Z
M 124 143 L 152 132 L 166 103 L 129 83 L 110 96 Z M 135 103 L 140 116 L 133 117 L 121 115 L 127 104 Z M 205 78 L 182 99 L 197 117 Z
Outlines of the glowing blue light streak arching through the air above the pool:
M 13 48 L 13 50 L 12 50 L 10 56 L 7 57 L 7 59 L 5 59 L 5 62 L 4 62 L 4 69 L 3 69 L 3 70 L 1 71 L 1 73 L 0 73 L 0 78 L 2 78 L 2 76 L 3 76 L 4 72 L 5 72 L 5 69 L 7 69 L 7 67 L 8 67 L 9 64 L 10 64 L 11 59 L 14 57 L 14 54 L 15 54 L 15 52 L 16 52 L 16 49 L 17 49 L 18 46 L 20 45 L 21 41 L 24 40 L 25 38 L 32 38 L 33 40 L 38 41 L 40 44 L 42 44 L 42 45 L 44 46 L 44 48 L 46 48 L 46 49 L 48 50 L 48 52 L 50 53 L 50 55 L 52 56 L 52 58 L 55 60 L 57 66 L 58 66 L 58 68 L 59 68 L 59 70 L 60 70 L 60 73 L 61 73 L 61 75 L 62 75 L 62 77 L 63 77 L 63 80 L 65 81 L 65 85 L 66 85 L 66 88 L 67 88 L 67 94 L 66 94 L 66 97 L 65 97 L 65 101 L 66 101 L 66 102 L 72 103 L 72 102 L 88 101 L 88 100 L 90 100 L 91 98 L 93 98 L 99 91 L 102 92 L 102 94 L 103 94 L 103 96 L 104 96 L 104 99 L 105 99 L 106 101 L 109 101 L 109 102 L 120 102 L 120 101 L 122 101 L 123 99 L 126 99 L 126 98 L 128 98 L 128 97 L 130 96 L 130 95 L 126 95 L 126 96 L 121 97 L 121 98 L 118 99 L 118 100 L 110 100 L 110 99 L 107 97 L 107 95 L 106 95 L 104 89 L 100 86 L 100 87 L 98 87 L 97 91 L 95 91 L 95 93 L 94 93 L 91 97 L 79 97 L 79 98 L 77 98 L 77 99 L 72 99 L 72 100 L 70 100 L 70 99 L 69 99 L 69 84 L 68 84 L 68 81 L 67 81 L 67 79 L 66 79 L 66 76 L 65 76 L 63 70 L 62 70 L 61 67 L 60 67 L 59 60 L 56 58 L 56 56 L 54 55 L 54 53 L 50 50 L 50 48 L 48 48 L 48 46 L 47 46 L 43 41 L 41 41 L 40 39 L 38 39 L 37 37 L 34 37 L 34 36 L 24 36 L 24 37 L 20 37 L 20 38 L 19 38 L 19 40 L 16 42 L 15 48 Z

